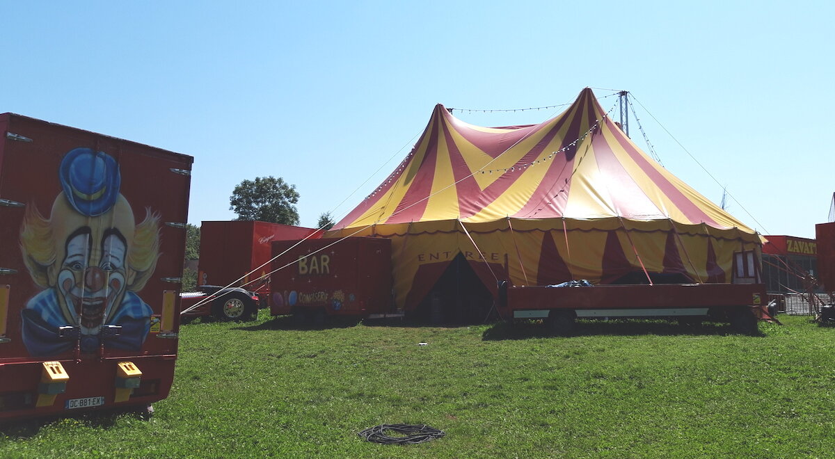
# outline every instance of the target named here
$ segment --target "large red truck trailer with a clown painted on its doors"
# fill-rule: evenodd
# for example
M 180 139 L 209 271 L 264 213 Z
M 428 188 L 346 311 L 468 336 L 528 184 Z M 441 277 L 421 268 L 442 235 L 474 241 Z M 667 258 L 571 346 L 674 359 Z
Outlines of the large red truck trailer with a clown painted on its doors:
M 0 114 L 0 421 L 170 391 L 193 159 Z

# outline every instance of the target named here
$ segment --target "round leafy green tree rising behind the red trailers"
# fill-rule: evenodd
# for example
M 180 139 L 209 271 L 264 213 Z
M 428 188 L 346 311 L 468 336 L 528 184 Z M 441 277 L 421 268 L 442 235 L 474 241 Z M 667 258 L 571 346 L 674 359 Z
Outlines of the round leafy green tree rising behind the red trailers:
M 281 224 L 299 224 L 296 185 L 281 177 L 256 177 L 235 186 L 229 198 L 230 210 L 239 220 L 261 220 Z

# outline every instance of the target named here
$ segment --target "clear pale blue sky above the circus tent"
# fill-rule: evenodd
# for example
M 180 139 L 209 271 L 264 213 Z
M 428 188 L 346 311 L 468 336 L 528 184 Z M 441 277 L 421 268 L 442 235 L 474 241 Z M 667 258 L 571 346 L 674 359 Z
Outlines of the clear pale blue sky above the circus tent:
M 235 184 L 274 175 L 312 226 L 374 189 L 435 103 L 627 89 L 720 184 L 636 106 L 667 169 L 716 203 L 726 185 L 763 234 L 814 237 L 835 191 L 832 4 L 6 2 L 0 112 L 194 156 L 190 223 L 234 218 Z

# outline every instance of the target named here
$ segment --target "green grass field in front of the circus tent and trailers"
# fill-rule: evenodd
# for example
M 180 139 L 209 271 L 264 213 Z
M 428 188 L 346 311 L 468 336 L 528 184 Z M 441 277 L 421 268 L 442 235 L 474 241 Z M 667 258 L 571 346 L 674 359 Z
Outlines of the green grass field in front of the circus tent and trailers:
M 760 336 L 614 321 L 550 337 L 539 324 L 296 330 L 262 310 L 184 325 L 150 421 L 19 422 L 0 430 L 0 456 L 835 456 L 835 328 L 781 320 Z M 382 423 L 447 436 L 357 436 Z

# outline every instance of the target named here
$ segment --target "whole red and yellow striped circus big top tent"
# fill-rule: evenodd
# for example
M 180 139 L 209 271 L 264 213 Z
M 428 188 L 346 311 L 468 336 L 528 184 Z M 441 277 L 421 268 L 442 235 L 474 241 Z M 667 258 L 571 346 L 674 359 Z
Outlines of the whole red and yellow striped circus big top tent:
M 412 151 L 326 237 L 392 240 L 397 306 L 455 259 L 497 280 L 612 283 L 640 275 L 731 282 L 759 235 L 656 163 L 585 88 L 542 124 L 483 128 L 438 104 Z

